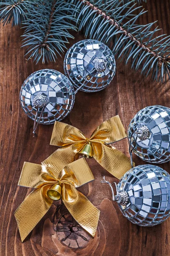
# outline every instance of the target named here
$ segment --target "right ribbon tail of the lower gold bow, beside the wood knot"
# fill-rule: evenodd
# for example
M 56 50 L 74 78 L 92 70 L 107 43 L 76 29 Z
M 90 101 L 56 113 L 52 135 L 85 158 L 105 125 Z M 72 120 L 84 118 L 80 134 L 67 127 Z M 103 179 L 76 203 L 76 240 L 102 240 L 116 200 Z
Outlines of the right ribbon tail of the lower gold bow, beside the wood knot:
M 79 225 L 94 237 L 99 222 L 100 210 L 74 187 L 71 188 L 74 195 L 72 194 L 71 198 L 67 196 L 70 188 L 66 188 L 66 186 L 69 185 L 65 184 L 62 188 L 63 203 Z

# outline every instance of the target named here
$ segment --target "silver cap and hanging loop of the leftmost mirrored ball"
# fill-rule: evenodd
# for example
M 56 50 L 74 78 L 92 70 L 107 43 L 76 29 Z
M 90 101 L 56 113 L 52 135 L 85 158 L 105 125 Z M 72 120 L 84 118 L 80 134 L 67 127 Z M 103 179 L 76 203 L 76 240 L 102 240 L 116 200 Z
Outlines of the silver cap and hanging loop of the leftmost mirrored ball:
M 44 112 L 45 107 L 48 104 L 48 98 L 42 94 L 38 94 L 37 96 L 34 97 L 33 104 L 34 104 L 34 107 L 37 108 L 37 112 L 36 112 L 35 119 L 34 119 L 34 128 L 33 128 L 33 132 L 32 132 L 34 134 L 33 137 L 35 137 L 35 136 L 37 136 L 35 131 L 36 131 L 36 129 L 39 125 L 39 122 L 41 120 L 42 113 Z M 42 108 L 42 111 L 40 113 L 39 119 L 37 120 L 39 108 Z M 37 124 L 36 124 L 36 122 L 37 122 Z

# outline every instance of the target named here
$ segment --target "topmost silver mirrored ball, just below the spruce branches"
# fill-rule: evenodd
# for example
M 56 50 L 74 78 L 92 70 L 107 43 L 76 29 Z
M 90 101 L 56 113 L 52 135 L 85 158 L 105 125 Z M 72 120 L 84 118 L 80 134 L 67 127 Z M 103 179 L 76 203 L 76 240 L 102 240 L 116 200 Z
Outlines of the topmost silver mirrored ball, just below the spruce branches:
M 64 71 L 77 89 L 96 92 L 107 87 L 113 79 L 116 61 L 108 46 L 87 39 L 79 41 L 68 50 Z

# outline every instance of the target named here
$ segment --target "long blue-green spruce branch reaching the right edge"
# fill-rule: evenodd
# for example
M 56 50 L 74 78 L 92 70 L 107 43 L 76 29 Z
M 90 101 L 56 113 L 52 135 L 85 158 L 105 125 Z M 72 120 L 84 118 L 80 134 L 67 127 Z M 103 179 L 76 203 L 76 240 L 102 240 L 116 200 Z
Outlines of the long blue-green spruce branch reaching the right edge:
M 170 78 L 170 36 L 155 37 L 159 31 L 155 22 L 138 25 L 136 20 L 145 13 L 134 1 L 124 3 L 119 0 L 71 0 L 79 9 L 79 30 L 84 29 L 85 37 L 97 39 L 108 44 L 113 53 L 125 59 L 131 59 L 132 68 L 153 79 Z M 141 9 L 141 10 L 140 10 Z M 140 11 L 136 15 L 136 11 Z

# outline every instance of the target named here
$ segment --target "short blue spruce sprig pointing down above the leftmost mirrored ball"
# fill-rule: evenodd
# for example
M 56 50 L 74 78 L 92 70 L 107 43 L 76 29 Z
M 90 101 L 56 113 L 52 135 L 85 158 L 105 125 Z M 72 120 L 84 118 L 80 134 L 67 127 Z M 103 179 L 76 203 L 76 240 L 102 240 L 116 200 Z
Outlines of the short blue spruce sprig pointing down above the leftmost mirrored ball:
M 76 30 L 74 6 L 65 0 L 41 0 L 37 7 L 27 9 L 27 19 L 23 22 L 25 32 L 23 46 L 28 47 L 26 55 L 42 63 L 55 61 L 56 52 L 64 53 L 68 38 L 74 38 L 68 30 Z M 28 59 L 29 59 L 28 58 Z

